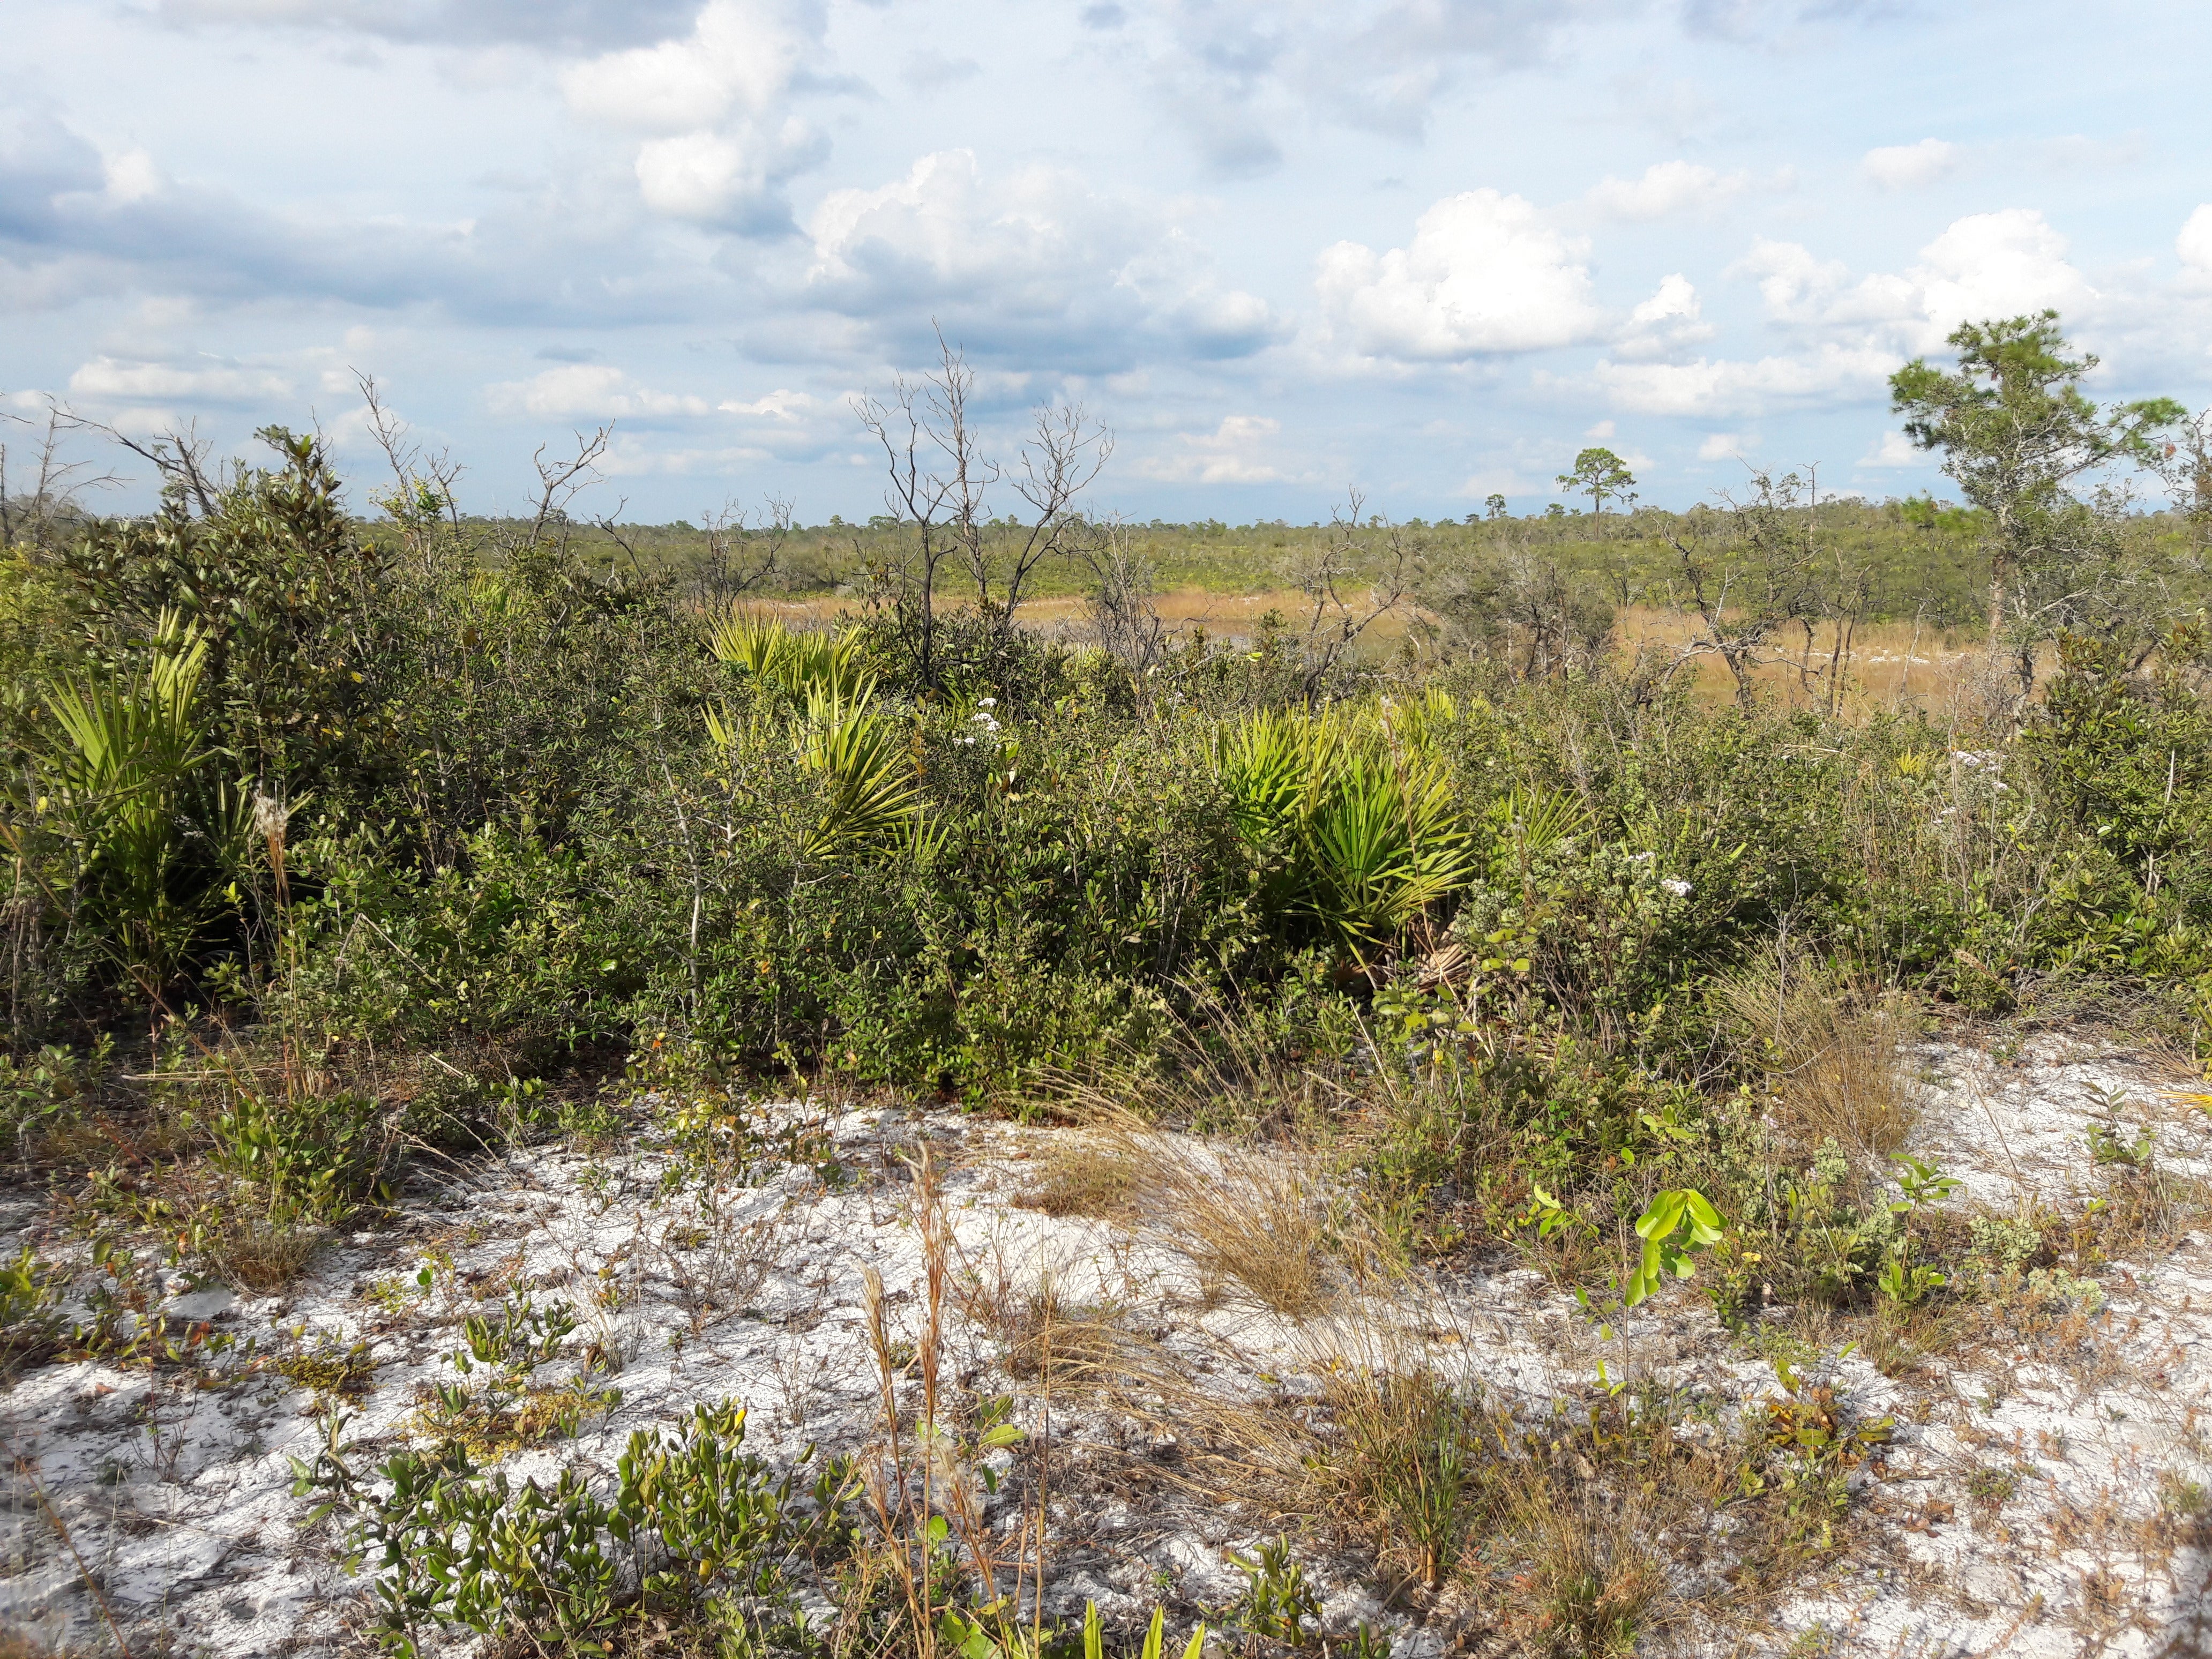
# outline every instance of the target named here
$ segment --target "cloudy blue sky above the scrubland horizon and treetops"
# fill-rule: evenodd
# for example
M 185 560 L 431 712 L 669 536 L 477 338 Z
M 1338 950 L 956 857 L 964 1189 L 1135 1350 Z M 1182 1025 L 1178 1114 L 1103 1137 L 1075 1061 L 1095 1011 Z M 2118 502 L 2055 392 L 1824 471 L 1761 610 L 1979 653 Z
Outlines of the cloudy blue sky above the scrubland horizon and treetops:
M 1170 520 L 1542 511 L 1588 445 L 1668 507 L 1942 495 L 1887 376 L 2046 305 L 2099 398 L 2212 403 L 2197 0 L 0 0 L 0 411 L 321 425 L 356 502 L 367 374 L 467 511 L 613 422 L 580 511 L 865 518 L 854 400 L 940 332 L 993 456 L 1077 403 L 1091 507 Z

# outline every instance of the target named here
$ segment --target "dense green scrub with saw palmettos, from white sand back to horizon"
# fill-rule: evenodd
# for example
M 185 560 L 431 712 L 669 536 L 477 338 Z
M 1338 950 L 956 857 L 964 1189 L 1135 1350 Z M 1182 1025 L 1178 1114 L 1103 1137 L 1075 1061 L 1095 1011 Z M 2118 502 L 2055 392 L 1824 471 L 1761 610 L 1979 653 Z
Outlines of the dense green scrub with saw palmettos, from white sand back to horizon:
M 2070 387 L 2042 327 L 2059 367 L 2020 396 Z M 1975 363 L 2011 396 L 2004 349 L 1900 398 L 1958 400 Z M 2062 476 L 1980 518 L 1816 513 L 1761 478 L 1586 542 L 1661 549 L 1701 619 L 1632 657 L 1571 557 L 1588 515 L 1438 538 L 1354 507 L 1298 575 L 1312 617 L 1223 648 L 1144 626 L 1144 544 L 1057 502 L 1097 628 L 1055 644 L 987 584 L 918 597 L 907 518 L 810 630 L 745 608 L 730 549 L 602 568 L 557 511 L 493 533 L 405 473 L 363 522 L 314 438 L 268 438 L 0 568 L 7 1128 L 93 1166 L 95 1225 L 239 1283 L 383 1201 L 405 1146 L 593 1133 L 701 1077 L 1261 1135 L 1338 1113 L 1396 1248 L 1522 1239 L 1601 1276 L 1593 1241 L 1655 1194 L 1683 1248 L 1681 1192 L 1778 1232 L 1893 1214 L 1867 1194 L 1902 1119 L 1849 1073 L 1889 1066 L 1902 1009 L 2205 1044 L 2185 511 Z M 980 571 L 995 524 L 964 522 Z M 1893 573 L 1854 562 L 1882 535 L 1913 549 Z M 1980 622 L 1991 568 L 2011 599 L 1942 710 L 1747 677 L 1836 606 Z M 1367 584 L 1422 599 L 1418 648 L 1356 650 Z M 1728 706 L 1674 672 L 1699 655 L 1745 670 Z M 1774 1159 L 1812 1170 L 1781 1208 Z M 1944 1283 L 1900 1225 L 1851 1237 L 1794 1252 L 1796 1287 Z M 1719 1279 L 1741 1303 L 1761 1274 Z

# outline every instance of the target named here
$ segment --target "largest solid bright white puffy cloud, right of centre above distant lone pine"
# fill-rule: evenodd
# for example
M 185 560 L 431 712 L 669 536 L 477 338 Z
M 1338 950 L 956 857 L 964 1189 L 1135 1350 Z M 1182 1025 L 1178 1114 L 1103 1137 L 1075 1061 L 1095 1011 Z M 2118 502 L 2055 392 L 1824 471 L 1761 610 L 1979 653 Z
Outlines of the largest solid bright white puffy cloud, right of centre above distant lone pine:
M 1327 248 L 1314 285 L 1360 356 L 1451 363 L 1593 338 L 1604 314 L 1586 257 L 1522 197 L 1467 190 L 1429 208 L 1405 248 Z

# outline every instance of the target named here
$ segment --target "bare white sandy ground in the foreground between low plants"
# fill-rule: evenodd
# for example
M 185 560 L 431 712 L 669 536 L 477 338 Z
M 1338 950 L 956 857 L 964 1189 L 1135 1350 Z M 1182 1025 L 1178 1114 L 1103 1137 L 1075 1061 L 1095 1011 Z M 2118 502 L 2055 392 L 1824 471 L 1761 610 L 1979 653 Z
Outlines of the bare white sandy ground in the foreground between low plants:
M 1964 1179 L 1949 1203 L 2017 1210 L 2097 1190 L 2090 1124 L 2157 1137 L 2170 1168 L 2212 1175 L 2203 1110 L 2166 1099 L 2148 1060 L 2044 1042 L 1997 1057 L 1962 1044 L 1916 1055 L 1927 1106 L 1920 1150 Z M 801 1108 L 779 1108 L 783 1119 Z M 1420 1352 L 1531 1411 L 1586 1389 L 1599 1356 L 1590 1321 L 1526 1270 L 1471 1272 L 1422 1303 L 1369 1301 L 1356 1321 L 1287 1321 L 1208 1283 L 1175 1239 L 1015 1208 L 1033 1155 L 1068 1130 L 1024 1130 L 951 1113 L 847 1113 L 814 1121 L 834 1170 L 814 1157 L 759 1186 L 664 1190 L 666 1150 L 586 1157 L 518 1152 L 465 1177 L 418 1175 L 400 1217 L 325 1250 L 285 1294 L 230 1298 L 177 1283 L 173 1312 L 212 1316 L 248 1343 L 212 1374 L 62 1363 L 0 1396 L 11 1469 L 0 1509 L 0 1617 L 49 1639 L 97 1644 L 113 1619 L 133 1652 L 155 1632 L 177 1652 L 319 1655 L 358 1650 L 361 1599 L 332 1562 L 330 1533 L 303 1531 L 290 1458 L 312 1458 L 323 1420 L 312 1389 L 276 1358 L 365 1343 L 369 1389 L 347 1409 L 363 1453 L 409 1433 L 416 1389 L 453 1380 L 449 1352 L 469 1312 L 529 1290 L 571 1301 L 582 1327 L 549 1376 L 586 1343 L 617 1354 L 619 1407 L 573 1440 L 511 1460 L 518 1475 L 560 1467 L 606 1473 L 626 1436 L 670 1425 L 692 1402 L 752 1409 L 748 1449 L 774 1462 L 805 1447 L 860 1449 L 876 1418 L 865 1345 L 865 1270 L 894 1325 L 918 1321 L 922 1250 L 911 1170 L 927 1139 L 969 1285 L 1020 1292 L 1053 1274 L 1064 1301 L 1110 1301 L 1144 1325 L 1186 1378 L 1225 1402 L 1281 1400 L 1347 1352 Z M 830 1181 L 825 1181 L 830 1170 Z M 35 1203 L 7 1228 L 60 1250 Z M 416 1274 L 431 1267 L 431 1290 Z M 1823 1376 L 1849 1413 L 1893 1416 L 1896 1440 L 1860 1482 L 1849 1566 L 1807 1586 L 1778 1628 L 1730 1632 L 1705 1650 L 1944 1659 L 1966 1655 L 2208 1652 L 2212 1564 L 2161 1522 L 2177 1482 L 2212 1484 L 2201 1433 L 2212 1411 L 2212 1241 L 2112 1265 L 2062 1287 L 2044 1327 L 2017 1347 L 1980 1345 L 1889 1378 L 1858 1354 Z M 1694 1287 L 1639 1316 L 1626 1360 L 1694 1383 L 1734 1409 L 1776 1389 Z M 1356 1329 L 1354 1329 L 1356 1327 Z M 1619 1343 L 1608 1352 L 1619 1358 Z M 1011 1391 L 1004 1347 L 951 1321 L 949 1371 Z M 228 1369 L 226 1369 L 228 1367 Z M 1115 1500 L 1084 1489 L 1086 1455 L 1172 1455 L 1172 1425 L 1068 1409 L 1068 1495 L 1055 1509 L 1048 1604 L 1137 1615 L 1170 1595 L 1221 1604 L 1241 1586 L 1228 1551 L 1270 1535 L 1237 1502 Z M 1086 1451 L 1088 1447 L 1088 1451 Z M 2163 1531 L 2161 1531 L 2163 1528 Z M 64 1537 L 66 1533 L 66 1537 Z M 1316 1557 L 1323 1624 L 1371 1621 L 1400 1659 L 1440 1650 L 1371 1586 Z M 88 1586 L 97 1586 L 95 1597 Z

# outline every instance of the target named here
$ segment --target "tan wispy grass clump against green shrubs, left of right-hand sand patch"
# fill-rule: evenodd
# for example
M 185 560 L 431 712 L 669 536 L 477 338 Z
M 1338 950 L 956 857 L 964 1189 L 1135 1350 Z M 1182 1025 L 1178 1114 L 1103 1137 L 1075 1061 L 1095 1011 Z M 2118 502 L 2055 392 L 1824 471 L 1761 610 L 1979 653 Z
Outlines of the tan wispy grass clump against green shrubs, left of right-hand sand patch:
M 1907 1013 L 1874 980 L 1761 964 L 1721 982 L 1723 1006 L 1767 1055 L 1774 1128 L 1794 1148 L 1836 1141 L 1874 1164 L 1911 1135 L 1918 1106 L 1898 1064 Z

